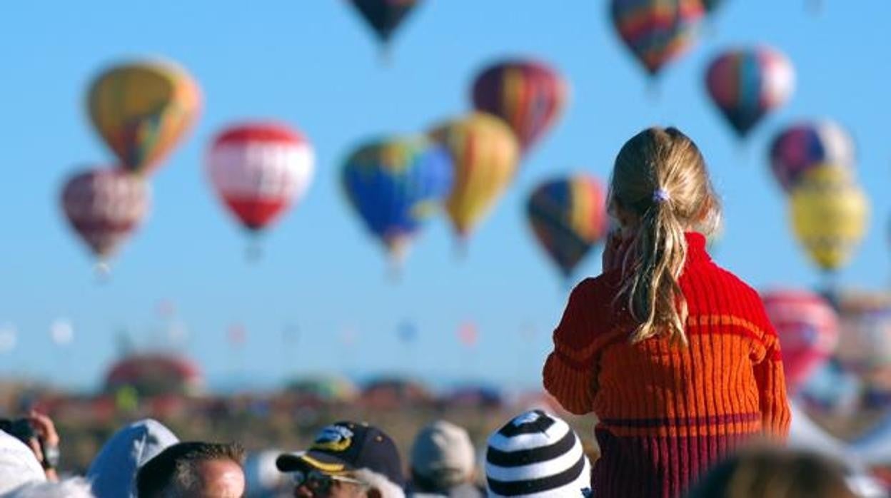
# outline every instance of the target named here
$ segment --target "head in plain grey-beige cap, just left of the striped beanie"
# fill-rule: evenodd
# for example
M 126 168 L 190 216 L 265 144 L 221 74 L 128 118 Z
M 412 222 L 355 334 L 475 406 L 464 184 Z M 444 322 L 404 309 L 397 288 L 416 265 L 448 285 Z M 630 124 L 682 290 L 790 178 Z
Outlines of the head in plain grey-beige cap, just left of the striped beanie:
M 437 420 L 414 438 L 413 487 L 425 493 L 446 493 L 473 479 L 475 460 L 467 431 L 446 420 Z

